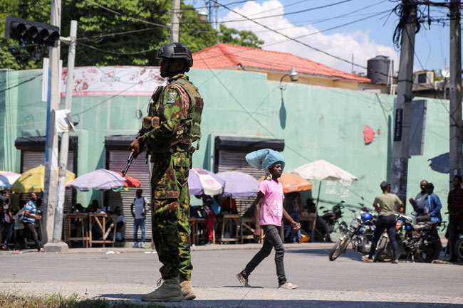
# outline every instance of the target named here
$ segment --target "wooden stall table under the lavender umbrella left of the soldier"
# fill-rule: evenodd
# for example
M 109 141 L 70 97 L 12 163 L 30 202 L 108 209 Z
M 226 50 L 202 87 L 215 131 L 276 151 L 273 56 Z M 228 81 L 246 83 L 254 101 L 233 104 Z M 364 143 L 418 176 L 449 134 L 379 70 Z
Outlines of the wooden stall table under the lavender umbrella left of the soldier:
M 89 222 L 88 232 L 90 234 L 88 242 L 90 244 L 90 248 L 92 247 L 92 244 L 103 244 L 103 247 L 105 247 L 106 243 L 110 243 L 114 247 L 117 218 L 118 218 L 118 214 L 110 214 L 110 213 L 89 213 L 88 214 L 88 222 Z M 98 230 L 103 235 L 103 238 L 101 240 L 93 240 L 92 229 L 95 223 L 98 226 Z M 108 235 L 110 234 L 111 231 L 113 231 L 113 239 L 108 240 Z

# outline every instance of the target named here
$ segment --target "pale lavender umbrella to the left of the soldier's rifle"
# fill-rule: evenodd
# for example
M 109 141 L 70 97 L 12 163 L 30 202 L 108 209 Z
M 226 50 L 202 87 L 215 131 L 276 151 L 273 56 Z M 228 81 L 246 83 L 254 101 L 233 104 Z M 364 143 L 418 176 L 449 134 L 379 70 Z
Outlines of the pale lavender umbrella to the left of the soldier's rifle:
M 107 191 L 108 189 L 125 186 L 124 181 L 125 179 L 123 176 L 117 172 L 106 169 L 98 169 L 79 176 L 66 186 L 76 188 L 79 191 L 90 191 L 90 189 Z

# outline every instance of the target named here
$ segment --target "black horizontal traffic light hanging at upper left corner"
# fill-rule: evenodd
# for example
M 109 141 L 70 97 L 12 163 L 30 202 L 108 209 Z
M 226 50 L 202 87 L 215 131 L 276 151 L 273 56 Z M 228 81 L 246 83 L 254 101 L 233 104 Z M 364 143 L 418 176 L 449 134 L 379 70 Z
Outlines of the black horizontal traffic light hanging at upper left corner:
M 60 38 L 59 31 L 59 27 L 47 23 L 28 21 L 13 16 L 6 17 L 5 38 L 56 47 Z

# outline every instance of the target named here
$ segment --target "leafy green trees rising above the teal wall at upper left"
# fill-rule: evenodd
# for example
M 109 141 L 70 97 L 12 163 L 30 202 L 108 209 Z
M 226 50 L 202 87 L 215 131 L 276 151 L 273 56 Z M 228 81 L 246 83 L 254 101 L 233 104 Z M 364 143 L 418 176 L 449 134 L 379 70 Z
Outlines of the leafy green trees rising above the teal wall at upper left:
M 71 20 L 78 21 L 76 66 L 159 65 L 157 49 L 169 43 L 172 0 L 62 0 L 61 36 L 68 36 Z M 182 3 L 180 42 L 192 53 L 218 42 L 259 48 L 251 31 L 221 25 L 220 33 L 201 22 L 192 6 Z M 50 23 L 50 0 L 0 0 L 2 18 L 16 16 Z M 0 26 L 0 68 L 41 68 L 48 47 L 6 39 Z M 67 63 L 68 48 L 61 43 L 61 59 Z M 65 64 L 66 65 L 66 64 Z

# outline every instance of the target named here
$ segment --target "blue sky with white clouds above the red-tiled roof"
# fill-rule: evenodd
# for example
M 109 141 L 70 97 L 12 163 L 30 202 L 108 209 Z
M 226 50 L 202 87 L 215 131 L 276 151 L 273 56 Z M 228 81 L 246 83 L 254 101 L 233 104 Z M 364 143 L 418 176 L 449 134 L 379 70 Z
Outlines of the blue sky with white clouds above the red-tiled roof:
M 204 0 L 187 0 L 200 8 Z M 265 43 L 262 48 L 293 53 L 318 63 L 351 72 L 366 73 L 362 67 L 376 55 L 387 55 L 398 70 L 400 50 L 394 46 L 393 33 L 398 16 L 392 9 L 395 0 L 219 0 L 220 4 L 291 38 L 334 55 L 338 60 L 301 43 L 288 40 L 252 21 L 220 7 L 218 20 L 227 27 L 250 30 Z M 324 6 L 324 7 L 323 7 Z M 420 6 L 427 14 L 427 6 Z M 447 9 L 430 8 L 430 16 L 443 19 L 428 26 L 422 23 L 415 41 L 414 70 L 439 70 L 449 65 L 449 21 Z M 284 15 L 282 15 L 284 14 Z M 271 16 L 271 17 L 268 17 Z M 266 17 L 266 18 L 261 18 Z M 442 24 L 444 22 L 445 24 Z M 352 62 L 354 66 L 350 63 Z

